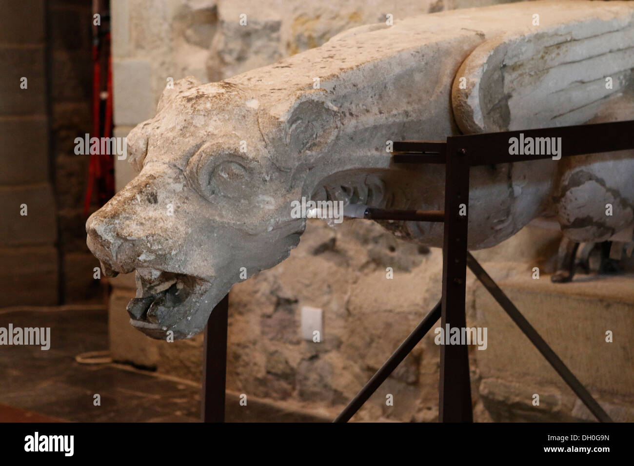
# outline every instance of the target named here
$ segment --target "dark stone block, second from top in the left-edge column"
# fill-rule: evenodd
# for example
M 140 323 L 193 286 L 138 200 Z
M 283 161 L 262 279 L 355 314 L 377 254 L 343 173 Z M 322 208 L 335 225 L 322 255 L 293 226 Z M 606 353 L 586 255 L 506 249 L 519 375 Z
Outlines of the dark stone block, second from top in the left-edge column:
M 0 115 L 46 113 L 44 47 L 0 47 Z M 22 77 L 27 88 L 21 89 Z

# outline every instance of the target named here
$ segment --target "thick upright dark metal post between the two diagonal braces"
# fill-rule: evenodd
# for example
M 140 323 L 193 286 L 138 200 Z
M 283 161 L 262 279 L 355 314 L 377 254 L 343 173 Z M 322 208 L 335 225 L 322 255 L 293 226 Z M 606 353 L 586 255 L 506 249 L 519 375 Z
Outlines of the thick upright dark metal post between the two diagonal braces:
M 469 163 L 467 155 L 448 138 L 444 193 L 443 315 L 441 327 L 467 327 L 465 280 L 467 276 L 467 218 Z M 462 215 L 461 215 L 462 214 Z M 471 385 L 467 345 L 440 347 L 440 422 L 472 422 Z

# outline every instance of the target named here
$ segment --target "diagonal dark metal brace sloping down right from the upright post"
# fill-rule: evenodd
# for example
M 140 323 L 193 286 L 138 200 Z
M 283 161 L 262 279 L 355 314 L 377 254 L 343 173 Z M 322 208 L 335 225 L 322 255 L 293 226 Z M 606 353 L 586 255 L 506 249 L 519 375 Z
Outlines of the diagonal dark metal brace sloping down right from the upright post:
M 504 294 L 500 287 L 498 287 L 498 285 L 493 281 L 488 273 L 484 271 L 482 266 L 471 254 L 468 254 L 467 256 L 467 266 L 469 266 L 471 271 L 475 274 L 475 276 L 477 276 L 478 280 L 480 280 L 488 292 L 491 293 L 491 295 L 495 298 L 495 301 L 500 304 L 502 309 L 504 309 L 508 316 L 512 318 L 515 324 L 517 324 L 517 327 L 524 332 L 524 335 L 531 340 L 531 343 L 533 343 L 544 358 L 547 359 L 550 365 L 553 366 L 553 369 L 559 373 L 562 379 L 564 379 L 564 382 L 573 389 L 575 394 L 581 399 L 581 401 L 583 401 L 583 404 L 588 406 L 588 409 L 592 411 L 592 414 L 595 415 L 601 422 L 612 422 L 612 419 L 597 403 L 597 400 L 592 398 L 592 395 L 586 390 L 586 387 L 584 387 L 581 382 L 574 377 L 573 373 L 570 372 L 569 368 L 567 368 L 564 364 L 564 361 L 559 359 L 559 356 L 557 356 L 550 346 L 548 346 L 547 342 L 540 337 L 537 330 L 528 323 L 524 316 L 522 316 L 522 314 L 517 310 L 517 307 L 515 307 L 510 299 L 508 299 L 507 295 Z

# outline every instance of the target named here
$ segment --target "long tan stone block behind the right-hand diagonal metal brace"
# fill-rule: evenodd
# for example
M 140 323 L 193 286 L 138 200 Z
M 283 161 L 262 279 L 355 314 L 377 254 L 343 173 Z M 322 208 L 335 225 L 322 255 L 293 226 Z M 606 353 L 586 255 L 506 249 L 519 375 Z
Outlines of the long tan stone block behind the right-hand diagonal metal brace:
M 619 399 L 634 396 L 631 276 L 600 280 L 581 277 L 560 285 L 551 283 L 548 276 L 533 280 L 526 273 L 512 280 L 502 280 L 499 285 L 600 403 L 611 401 L 618 405 Z M 576 399 L 574 392 L 484 288 L 475 288 L 474 296 L 475 323 L 470 325 L 488 328 L 488 347 L 474 351 L 482 380 L 508 382 L 506 385 L 483 382 L 482 396 L 507 405 L 523 397 L 524 410 L 530 411 L 532 398 L 526 397 L 542 394 L 545 387 L 550 387 L 550 395 L 555 393 L 559 400 L 553 399 L 552 409 L 573 415 L 569 400 Z M 611 332 L 612 342 L 606 341 L 607 332 Z M 513 386 L 522 387 L 523 391 L 514 391 Z M 565 410 L 563 405 L 567 406 Z M 535 409 L 543 411 L 543 408 Z

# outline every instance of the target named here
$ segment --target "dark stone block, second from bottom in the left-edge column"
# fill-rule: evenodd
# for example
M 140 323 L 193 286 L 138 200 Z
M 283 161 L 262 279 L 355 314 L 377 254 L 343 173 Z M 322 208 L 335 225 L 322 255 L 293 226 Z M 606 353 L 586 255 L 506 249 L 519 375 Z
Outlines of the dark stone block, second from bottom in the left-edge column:
M 27 205 L 26 216 L 20 205 Z M 51 244 L 57 236 L 55 200 L 48 183 L 26 186 L 0 186 L 0 245 Z

